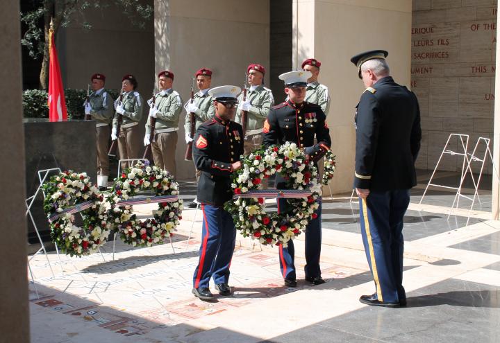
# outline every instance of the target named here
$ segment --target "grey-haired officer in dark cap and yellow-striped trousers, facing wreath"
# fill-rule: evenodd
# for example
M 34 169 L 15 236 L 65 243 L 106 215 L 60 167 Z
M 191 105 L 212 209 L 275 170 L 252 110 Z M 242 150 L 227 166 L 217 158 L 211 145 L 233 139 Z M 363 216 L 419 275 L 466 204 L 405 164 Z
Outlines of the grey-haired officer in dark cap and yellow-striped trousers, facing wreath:
M 363 245 L 375 293 L 363 304 L 406 306 L 403 288 L 403 217 L 415 186 L 422 131 L 417 97 L 390 76 L 387 51 L 351 58 L 365 91 L 358 103 L 354 187 L 360 202 Z

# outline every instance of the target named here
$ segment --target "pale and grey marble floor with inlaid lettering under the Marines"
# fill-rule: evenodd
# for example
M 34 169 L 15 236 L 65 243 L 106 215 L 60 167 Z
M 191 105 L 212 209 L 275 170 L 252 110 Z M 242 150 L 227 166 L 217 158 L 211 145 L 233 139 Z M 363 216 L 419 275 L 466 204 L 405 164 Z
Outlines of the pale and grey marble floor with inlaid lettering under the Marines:
M 374 290 L 363 251 L 358 203 L 325 197 L 322 276 L 303 281 L 303 235 L 296 240 L 299 285 L 286 288 L 276 247 L 238 236 L 231 264 L 233 297 L 194 298 L 201 213 L 185 209 L 172 244 L 132 249 L 107 243 L 84 258 L 36 255 L 30 262 L 31 340 L 75 342 L 500 342 L 500 222 L 490 220 L 491 179 L 472 210 L 455 193 L 433 188 L 419 203 L 419 173 L 405 217 L 406 308 L 360 304 Z M 453 173 L 435 181 L 453 185 Z M 459 180 L 458 180 L 459 181 Z M 436 182 L 437 183 L 437 182 Z M 464 186 L 472 195 L 471 189 Z M 181 184 L 188 202 L 192 182 Z M 272 206 L 272 204 L 269 204 Z M 151 205 L 136 206 L 141 216 Z M 197 212 L 197 213 L 196 213 Z M 192 235 L 190 230 L 192 222 Z M 47 261 L 48 259 L 48 261 Z

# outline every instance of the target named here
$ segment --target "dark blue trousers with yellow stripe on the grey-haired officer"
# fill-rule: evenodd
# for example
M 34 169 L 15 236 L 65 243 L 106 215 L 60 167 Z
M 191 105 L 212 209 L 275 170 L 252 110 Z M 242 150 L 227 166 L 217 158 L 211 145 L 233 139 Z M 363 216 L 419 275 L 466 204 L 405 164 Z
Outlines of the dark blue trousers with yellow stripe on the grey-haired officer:
M 403 288 L 403 218 L 410 191 L 370 191 L 360 198 L 361 236 L 377 299 L 398 302 L 406 299 Z

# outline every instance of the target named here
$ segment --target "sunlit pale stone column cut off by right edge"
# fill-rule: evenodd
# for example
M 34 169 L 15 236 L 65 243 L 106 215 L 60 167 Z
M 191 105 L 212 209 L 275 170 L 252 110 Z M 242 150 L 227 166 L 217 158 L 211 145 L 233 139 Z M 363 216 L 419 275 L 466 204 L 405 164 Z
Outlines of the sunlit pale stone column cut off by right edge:
M 500 23 L 500 3 L 497 5 L 497 23 Z M 499 27 L 497 25 L 497 37 Z M 492 217 L 499 219 L 500 212 L 500 185 L 498 173 L 500 173 L 500 44 L 497 44 L 497 59 L 495 60 L 495 101 L 494 101 L 494 128 L 493 128 L 493 165 L 492 173 Z

